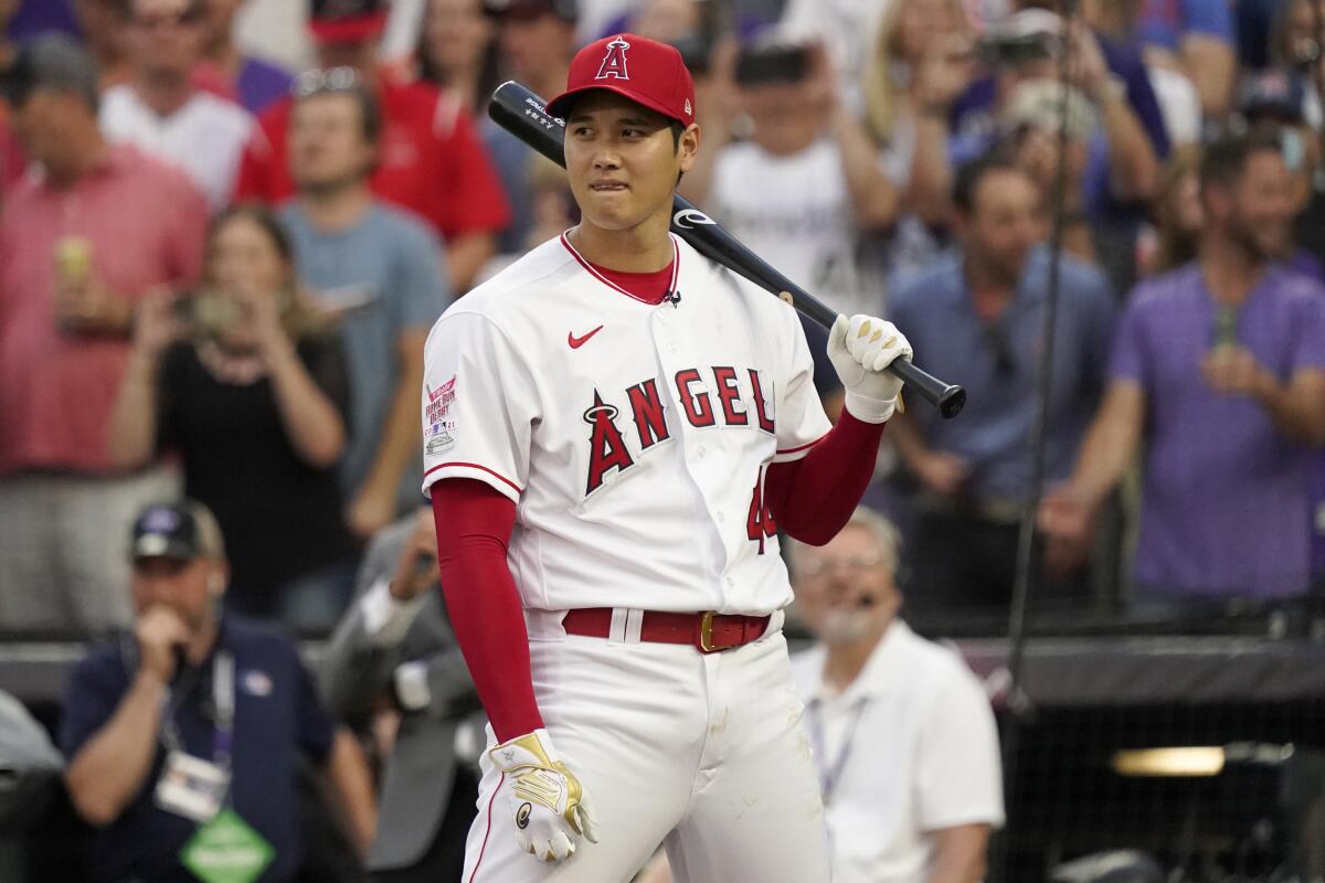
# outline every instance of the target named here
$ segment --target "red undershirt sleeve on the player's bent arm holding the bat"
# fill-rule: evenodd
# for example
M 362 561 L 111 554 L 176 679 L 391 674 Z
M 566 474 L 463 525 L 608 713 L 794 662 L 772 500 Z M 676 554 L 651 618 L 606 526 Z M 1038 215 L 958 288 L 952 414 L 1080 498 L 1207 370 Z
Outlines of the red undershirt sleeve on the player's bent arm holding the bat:
M 884 424 L 867 424 L 843 409 L 837 425 L 800 459 L 771 463 L 763 492 L 778 527 L 810 545 L 823 545 L 851 520 L 874 474 Z

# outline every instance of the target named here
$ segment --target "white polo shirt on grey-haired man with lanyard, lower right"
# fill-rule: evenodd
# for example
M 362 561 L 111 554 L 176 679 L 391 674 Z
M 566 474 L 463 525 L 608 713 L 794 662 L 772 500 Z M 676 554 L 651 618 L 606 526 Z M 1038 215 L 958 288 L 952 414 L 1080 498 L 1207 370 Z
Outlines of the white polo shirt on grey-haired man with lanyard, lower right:
M 994 712 L 957 654 L 897 621 L 839 695 L 824 658 L 816 645 L 791 671 L 825 784 L 833 883 L 924 880 L 930 833 L 1003 823 Z

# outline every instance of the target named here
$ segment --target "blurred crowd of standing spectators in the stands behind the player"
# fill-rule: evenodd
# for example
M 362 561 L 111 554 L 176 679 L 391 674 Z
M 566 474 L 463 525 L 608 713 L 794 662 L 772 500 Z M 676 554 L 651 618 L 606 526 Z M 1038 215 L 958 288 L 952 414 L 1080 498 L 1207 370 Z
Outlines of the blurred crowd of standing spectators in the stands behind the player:
M 1325 571 L 1313 0 L 0 0 L 0 629 L 127 622 L 106 526 L 176 492 L 229 539 L 228 604 L 330 629 L 419 499 L 432 322 L 576 221 L 486 95 L 559 91 L 617 29 L 696 74 L 682 195 L 967 388 L 951 422 L 912 402 L 868 498 L 918 614 L 1006 610 L 1041 496 L 1051 605 L 1298 598 Z

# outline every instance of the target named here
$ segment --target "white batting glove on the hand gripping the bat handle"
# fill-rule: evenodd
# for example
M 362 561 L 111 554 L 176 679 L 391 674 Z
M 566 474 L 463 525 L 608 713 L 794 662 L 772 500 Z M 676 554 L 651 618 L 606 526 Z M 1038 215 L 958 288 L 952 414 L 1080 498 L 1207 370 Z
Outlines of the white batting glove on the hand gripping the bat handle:
M 892 322 L 840 315 L 828 331 L 828 359 L 847 391 L 847 410 L 867 424 L 893 416 L 902 381 L 884 369 L 894 359 L 910 357 L 910 343 Z

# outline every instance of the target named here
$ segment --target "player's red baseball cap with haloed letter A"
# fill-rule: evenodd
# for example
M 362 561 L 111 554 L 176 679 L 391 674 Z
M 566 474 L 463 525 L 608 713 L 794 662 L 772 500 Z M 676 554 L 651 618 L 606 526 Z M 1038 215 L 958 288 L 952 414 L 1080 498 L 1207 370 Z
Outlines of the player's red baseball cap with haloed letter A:
M 681 53 L 648 37 L 619 33 L 580 49 L 566 91 L 547 102 L 547 113 L 564 119 L 571 101 L 594 89 L 615 91 L 682 126 L 694 122 L 694 81 Z

